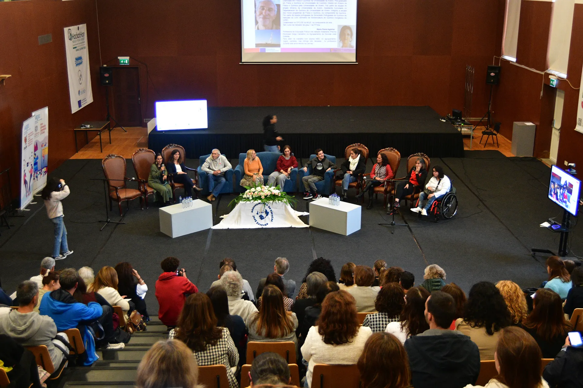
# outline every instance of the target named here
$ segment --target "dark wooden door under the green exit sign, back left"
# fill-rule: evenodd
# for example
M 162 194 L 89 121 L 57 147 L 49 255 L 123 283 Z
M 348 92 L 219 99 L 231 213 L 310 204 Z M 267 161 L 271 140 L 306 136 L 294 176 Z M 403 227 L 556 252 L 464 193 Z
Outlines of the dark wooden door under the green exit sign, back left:
M 115 120 L 124 127 L 141 127 L 142 102 L 138 67 L 113 67 L 112 88 Z

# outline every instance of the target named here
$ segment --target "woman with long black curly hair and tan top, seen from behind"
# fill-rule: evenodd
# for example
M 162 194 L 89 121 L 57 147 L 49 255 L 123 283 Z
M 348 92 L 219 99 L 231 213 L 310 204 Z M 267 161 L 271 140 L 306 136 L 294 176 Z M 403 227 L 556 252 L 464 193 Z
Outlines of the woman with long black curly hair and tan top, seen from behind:
M 480 361 L 494 359 L 500 330 L 512 320 L 500 291 L 490 282 L 478 282 L 470 289 L 463 318 L 455 321 L 455 329 L 466 334 L 480 350 Z

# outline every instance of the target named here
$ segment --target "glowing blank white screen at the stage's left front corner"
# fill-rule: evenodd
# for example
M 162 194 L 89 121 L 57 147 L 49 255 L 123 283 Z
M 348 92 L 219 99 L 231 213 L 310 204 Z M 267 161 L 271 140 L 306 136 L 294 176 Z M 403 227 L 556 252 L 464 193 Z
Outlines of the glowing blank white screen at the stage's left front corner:
M 208 128 L 206 99 L 156 101 L 156 127 L 159 131 Z

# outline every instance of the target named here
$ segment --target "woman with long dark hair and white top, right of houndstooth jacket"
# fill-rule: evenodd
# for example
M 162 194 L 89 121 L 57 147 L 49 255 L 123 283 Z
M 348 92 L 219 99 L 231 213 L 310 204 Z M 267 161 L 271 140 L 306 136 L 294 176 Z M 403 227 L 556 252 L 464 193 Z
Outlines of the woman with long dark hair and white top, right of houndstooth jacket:
M 425 302 L 429 295 L 429 291 L 423 287 L 411 287 L 405 296 L 405 307 L 399 316 L 399 322 L 389 322 L 385 331 L 404 344 L 410 336 L 429 329 L 429 323 L 425 320 Z

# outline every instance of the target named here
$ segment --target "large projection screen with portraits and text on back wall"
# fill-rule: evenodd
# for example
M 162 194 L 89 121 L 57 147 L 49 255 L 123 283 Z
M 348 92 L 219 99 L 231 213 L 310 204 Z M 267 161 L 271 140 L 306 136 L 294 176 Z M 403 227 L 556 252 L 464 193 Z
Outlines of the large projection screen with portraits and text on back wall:
M 356 3 L 241 0 L 241 62 L 356 62 Z

